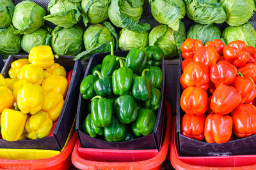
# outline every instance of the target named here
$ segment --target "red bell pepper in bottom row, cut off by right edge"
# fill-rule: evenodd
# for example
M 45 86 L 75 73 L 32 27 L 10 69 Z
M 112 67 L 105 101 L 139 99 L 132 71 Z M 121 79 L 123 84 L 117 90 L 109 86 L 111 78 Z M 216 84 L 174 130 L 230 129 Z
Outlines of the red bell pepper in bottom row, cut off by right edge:
M 256 134 L 256 107 L 252 104 L 240 104 L 231 112 L 233 131 L 238 138 Z

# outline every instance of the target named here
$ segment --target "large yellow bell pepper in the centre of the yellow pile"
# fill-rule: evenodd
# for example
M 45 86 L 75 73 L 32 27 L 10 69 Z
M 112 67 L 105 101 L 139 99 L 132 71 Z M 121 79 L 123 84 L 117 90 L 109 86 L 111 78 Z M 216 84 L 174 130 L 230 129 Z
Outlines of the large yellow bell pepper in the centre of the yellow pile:
M 44 102 L 44 91 L 40 85 L 32 83 L 25 84 L 17 94 L 17 104 L 22 113 L 35 115 L 42 109 Z

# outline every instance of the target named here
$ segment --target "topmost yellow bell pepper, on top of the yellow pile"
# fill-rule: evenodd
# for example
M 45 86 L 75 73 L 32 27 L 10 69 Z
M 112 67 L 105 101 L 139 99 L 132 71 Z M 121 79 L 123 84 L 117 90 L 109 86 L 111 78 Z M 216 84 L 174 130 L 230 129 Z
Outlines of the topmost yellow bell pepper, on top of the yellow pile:
M 51 67 L 54 64 L 54 55 L 51 46 L 35 46 L 30 50 L 28 60 L 31 64 L 42 67 L 43 69 Z

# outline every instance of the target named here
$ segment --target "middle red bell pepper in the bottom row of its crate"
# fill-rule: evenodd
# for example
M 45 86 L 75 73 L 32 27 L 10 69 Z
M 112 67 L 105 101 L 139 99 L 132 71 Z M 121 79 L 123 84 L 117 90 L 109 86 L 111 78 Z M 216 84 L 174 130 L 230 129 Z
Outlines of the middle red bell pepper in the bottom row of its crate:
M 232 135 L 232 126 L 232 118 L 228 115 L 207 115 L 204 127 L 205 140 L 207 143 L 226 143 Z

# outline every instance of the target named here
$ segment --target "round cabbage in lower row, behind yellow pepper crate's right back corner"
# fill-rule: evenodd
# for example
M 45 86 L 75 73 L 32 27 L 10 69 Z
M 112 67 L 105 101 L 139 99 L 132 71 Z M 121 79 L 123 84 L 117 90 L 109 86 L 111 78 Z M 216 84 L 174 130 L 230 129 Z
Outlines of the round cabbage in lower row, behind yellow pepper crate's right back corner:
M 78 25 L 70 28 L 57 26 L 51 34 L 51 46 L 56 54 L 74 56 L 83 50 L 83 30 Z

